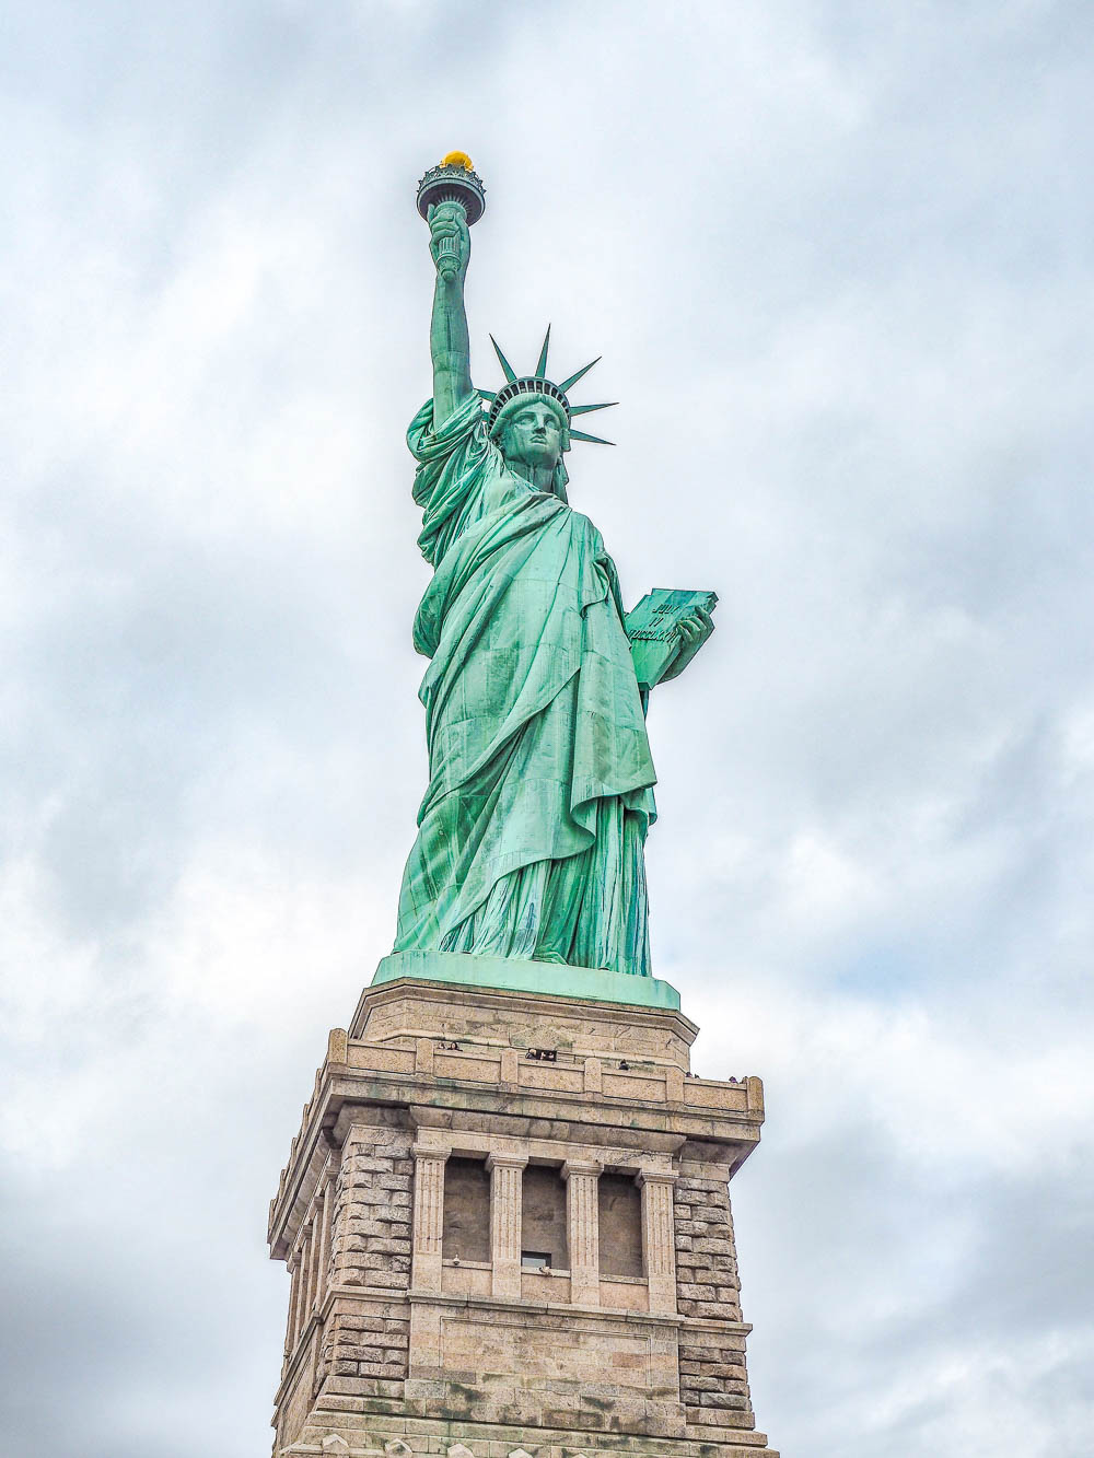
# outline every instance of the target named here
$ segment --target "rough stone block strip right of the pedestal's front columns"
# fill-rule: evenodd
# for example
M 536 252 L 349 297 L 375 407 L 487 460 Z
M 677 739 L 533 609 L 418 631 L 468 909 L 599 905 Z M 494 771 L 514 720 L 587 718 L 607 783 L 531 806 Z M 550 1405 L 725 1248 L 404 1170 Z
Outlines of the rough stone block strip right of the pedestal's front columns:
M 740 1321 L 729 1190 L 719 1180 L 681 1172 L 675 1187 L 677 1302 L 681 1317 Z M 744 1337 L 716 1327 L 680 1333 L 680 1400 L 688 1423 L 741 1426 L 751 1411 Z

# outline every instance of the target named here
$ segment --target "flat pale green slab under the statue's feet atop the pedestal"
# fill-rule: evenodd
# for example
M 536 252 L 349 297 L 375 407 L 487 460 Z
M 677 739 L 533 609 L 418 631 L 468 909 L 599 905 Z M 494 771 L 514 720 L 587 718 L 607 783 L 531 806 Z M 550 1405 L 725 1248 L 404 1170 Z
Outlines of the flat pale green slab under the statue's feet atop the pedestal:
M 550 967 L 515 956 L 468 956 L 459 952 L 394 952 L 376 968 L 372 986 L 400 977 L 459 987 L 502 987 L 516 993 L 551 993 L 591 1002 L 627 1003 L 632 1007 L 680 1007 L 680 993 L 656 977 L 627 977 L 591 967 Z

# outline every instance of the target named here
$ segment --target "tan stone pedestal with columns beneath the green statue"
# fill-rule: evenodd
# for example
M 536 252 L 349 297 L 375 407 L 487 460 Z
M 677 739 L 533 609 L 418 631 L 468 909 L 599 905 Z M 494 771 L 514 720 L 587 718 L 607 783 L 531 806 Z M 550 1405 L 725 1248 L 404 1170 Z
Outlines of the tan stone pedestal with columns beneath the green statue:
M 664 983 L 489 961 L 389 958 L 330 1035 L 270 1209 L 276 1458 L 777 1458 L 728 1196 L 760 1080 L 691 1077 Z

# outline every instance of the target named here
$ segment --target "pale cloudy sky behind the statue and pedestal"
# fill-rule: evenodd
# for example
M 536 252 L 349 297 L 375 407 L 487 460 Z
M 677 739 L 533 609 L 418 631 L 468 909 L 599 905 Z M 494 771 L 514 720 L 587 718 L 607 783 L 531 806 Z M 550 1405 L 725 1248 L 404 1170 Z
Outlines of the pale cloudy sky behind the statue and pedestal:
M 785 1458 L 1094 1451 L 1094 10 L 4 0 L 0 1448 L 267 1452 L 268 1200 L 426 783 L 422 172 L 614 449 L 653 962 L 764 1079 Z M 597 417 L 607 421 L 607 416 Z

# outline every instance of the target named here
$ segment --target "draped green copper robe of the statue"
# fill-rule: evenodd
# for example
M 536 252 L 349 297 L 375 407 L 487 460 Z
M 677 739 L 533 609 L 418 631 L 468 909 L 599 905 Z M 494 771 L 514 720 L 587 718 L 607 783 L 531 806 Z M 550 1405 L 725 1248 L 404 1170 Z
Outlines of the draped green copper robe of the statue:
M 505 464 L 477 398 L 439 432 L 427 402 L 407 440 L 433 567 L 414 620 L 429 789 L 395 951 L 648 977 L 656 776 L 616 566 Z

